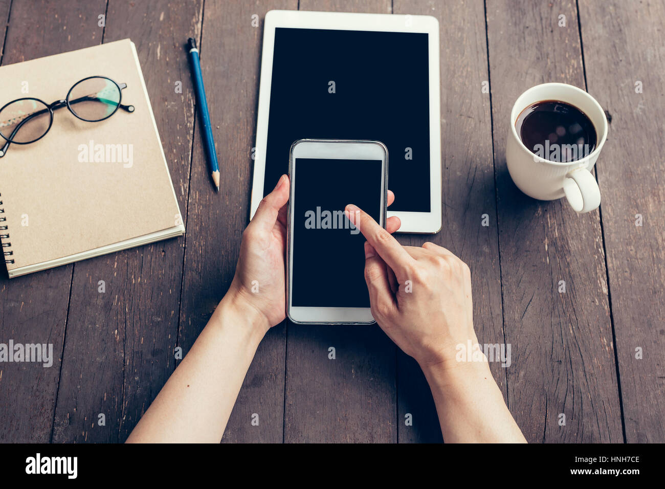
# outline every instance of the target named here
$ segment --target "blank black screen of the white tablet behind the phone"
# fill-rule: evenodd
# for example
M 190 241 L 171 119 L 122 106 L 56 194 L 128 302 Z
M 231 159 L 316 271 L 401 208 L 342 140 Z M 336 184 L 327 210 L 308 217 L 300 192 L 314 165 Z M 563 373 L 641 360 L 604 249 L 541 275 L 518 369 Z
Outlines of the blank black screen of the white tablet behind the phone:
M 378 140 L 390 210 L 430 212 L 428 60 L 426 33 L 277 27 L 264 195 L 288 172 L 296 140 Z

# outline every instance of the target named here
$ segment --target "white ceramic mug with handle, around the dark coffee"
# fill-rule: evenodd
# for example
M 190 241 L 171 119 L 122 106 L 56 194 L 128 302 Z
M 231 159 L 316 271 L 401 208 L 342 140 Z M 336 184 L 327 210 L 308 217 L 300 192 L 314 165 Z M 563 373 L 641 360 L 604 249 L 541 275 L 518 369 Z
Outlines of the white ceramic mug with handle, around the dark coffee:
M 573 105 L 591 120 L 596 130 L 596 148 L 573 162 L 557 162 L 537 156 L 524 145 L 515 122 L 522 110 L 535 102 L 558 100 Z M 593 96 L 577 86 L 565 83 L 543 83 L 521 94 L 510 112 L 510 131 L 505 159 L 517 188 L 539 200 L 555 200 L 565 196 L 573 210 L 589 212 L 600 205 L 600 190 L 591 169 L 607 138 L 607 118 Z M 547 154 L 547 153 L 546 153 Z

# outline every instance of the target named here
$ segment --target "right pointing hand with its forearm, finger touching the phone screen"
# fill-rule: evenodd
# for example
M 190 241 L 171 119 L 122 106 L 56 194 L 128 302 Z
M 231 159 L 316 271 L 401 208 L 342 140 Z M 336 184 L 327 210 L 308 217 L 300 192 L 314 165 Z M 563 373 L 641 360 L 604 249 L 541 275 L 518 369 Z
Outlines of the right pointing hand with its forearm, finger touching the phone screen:
M 400 245 L 356 206 L 346 206 L 345 212 L 367 240 L 365 280 L 372 315 L 420 365 L 444 440 L 525 442 L 485 355 L 479 361 L 456 359 L 458 345 L 478 343 L 466 263 L 436 244 Z

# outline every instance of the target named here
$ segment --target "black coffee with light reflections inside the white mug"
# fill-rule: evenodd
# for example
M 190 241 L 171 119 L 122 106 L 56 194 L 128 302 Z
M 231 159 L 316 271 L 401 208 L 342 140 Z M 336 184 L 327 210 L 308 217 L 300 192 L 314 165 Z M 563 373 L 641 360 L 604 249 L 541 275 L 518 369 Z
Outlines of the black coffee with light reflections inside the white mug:
M 529 105 L 517 117 L 515 129 L 524 145 L 545 160 L 581 160 L 596 148 L 596 130 L 587 114 L 559 100 Z

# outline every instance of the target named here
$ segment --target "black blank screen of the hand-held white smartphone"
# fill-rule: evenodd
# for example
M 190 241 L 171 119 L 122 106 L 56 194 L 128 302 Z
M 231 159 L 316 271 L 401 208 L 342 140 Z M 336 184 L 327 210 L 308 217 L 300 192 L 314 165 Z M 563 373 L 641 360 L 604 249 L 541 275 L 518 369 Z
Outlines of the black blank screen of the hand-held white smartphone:
M 355 204 L 376 222 L 381 161 L 296 158 L 293 178 L 293 281 L 296 307 L 370 307 L 365 238 L 344 216 Z

